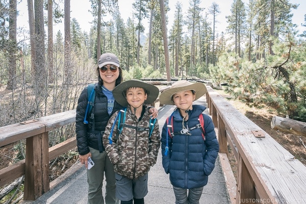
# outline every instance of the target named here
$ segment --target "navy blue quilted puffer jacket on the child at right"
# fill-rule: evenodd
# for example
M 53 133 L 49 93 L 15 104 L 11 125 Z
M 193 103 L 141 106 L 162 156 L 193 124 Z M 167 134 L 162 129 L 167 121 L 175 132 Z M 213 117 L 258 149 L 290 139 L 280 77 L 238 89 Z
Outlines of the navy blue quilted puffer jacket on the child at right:
M 189 110 L 189 119 L 185 121 L 185 127 L 192 128 L 199 124 L 199 115 L 206 107 L 193 105 Z M 219 143 L 216 138 L 214 124 L 210 116 L 203 114 L 205 141 L 202 138 L 200 129 L 190 131 L 191 135 L 175 134 L 172 138 L 167 134 L 167 121 L 162 132 L 162 156 L 163 167 L 169 173 L 170 182 L 173 186 L 191 189 L 203 187 L 208 182 L 215 167 L 218 156 Z M 173 114 L 173 132 L 182 130 L 183 117 L 179 109 Z M 171 129 L 171 127 L 170 127 Z M 172 132 L 172 129 L 170 130 Z M 165 156 L 165 148 L 168 135 L 168 155 Z

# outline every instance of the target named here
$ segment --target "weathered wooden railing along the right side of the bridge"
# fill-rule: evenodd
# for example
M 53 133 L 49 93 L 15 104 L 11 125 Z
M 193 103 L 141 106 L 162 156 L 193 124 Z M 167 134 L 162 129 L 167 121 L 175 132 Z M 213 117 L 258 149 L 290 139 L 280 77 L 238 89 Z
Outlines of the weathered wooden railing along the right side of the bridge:
M 232 203 L 306 203 L 306 166 L 210 87 L 207 104 Z M 238 162 L 237 182 L 227 145 Z

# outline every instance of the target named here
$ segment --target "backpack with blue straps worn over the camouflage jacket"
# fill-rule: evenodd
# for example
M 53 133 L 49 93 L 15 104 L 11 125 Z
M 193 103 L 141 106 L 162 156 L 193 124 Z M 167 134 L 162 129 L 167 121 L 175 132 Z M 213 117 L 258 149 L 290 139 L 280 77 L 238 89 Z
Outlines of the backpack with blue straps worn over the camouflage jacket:
M 119 111 L 119 113 L 117 114 L 117 116 L 115 118 L 115 121 L 113 123 L 112 129 L 111 129 L 111 133 L 109 135 L 110 144 L 113 144 L 113 142 L 114 143 L 117 142 L 117 140 L 119 139 L 119 135 L 121 134 L 123 126 L 135 129 L 137 131 L 149 131 L 149 138 L 151 137 L 151 134 L 152 134 L 152 131 L 154 129 L 155 122 L 156 122 L 156 118 L 155 119 L 150 118 L 150 122 L 149 122 L 148 127 L 138 127 L 138 126 L 125 124 L 125 114 L 126 114 L 126 108 L 121 109 Z M 117 120 L 118 120 L 118 122 L 117 122 Z M 112 136 L 113 136 L 113 131 L 114 131 L 114 127 L 115 127 L 116 123 L 117 123 L 117 133 L 116 133 L 115 139 L 113 141 Z

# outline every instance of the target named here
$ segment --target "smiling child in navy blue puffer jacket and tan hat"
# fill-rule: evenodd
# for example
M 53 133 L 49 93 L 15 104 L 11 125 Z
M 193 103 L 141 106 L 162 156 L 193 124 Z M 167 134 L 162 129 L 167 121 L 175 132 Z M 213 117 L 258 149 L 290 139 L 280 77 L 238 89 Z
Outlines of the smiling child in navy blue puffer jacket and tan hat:
M 163 167 L 173 186 L 175 203 L 199 203 L 218 156 L 219 143 L 204 106 L 192 105 L 207 92 L 203 83 L 175 82 L 160 95 L 163 105 L 177 108 L 162 131 Z M 187 191 L 188 190 L 188 191 Z

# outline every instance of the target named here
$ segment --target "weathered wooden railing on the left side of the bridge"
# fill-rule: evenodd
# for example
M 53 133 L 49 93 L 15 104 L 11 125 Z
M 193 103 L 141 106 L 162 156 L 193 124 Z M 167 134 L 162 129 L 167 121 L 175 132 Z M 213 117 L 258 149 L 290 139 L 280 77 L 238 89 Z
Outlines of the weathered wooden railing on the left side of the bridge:
M 49 161 L 77 146 L 72 137 L 48 147 L 48 133 L 74 121 L 75 110 L 71 110 L 0 127 L 0 147 L 26 139 L 25 159 L 0 169 L 0 187 L 24 175 L 24 200 L 36 200 L 46 193 L 50 188 Z

